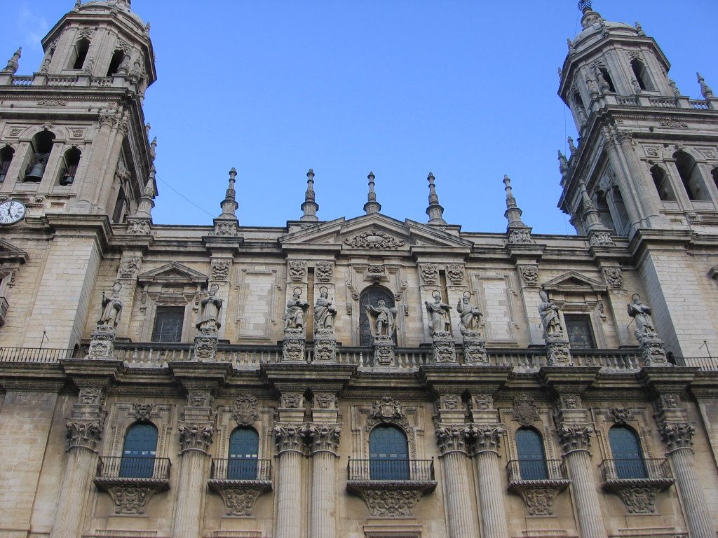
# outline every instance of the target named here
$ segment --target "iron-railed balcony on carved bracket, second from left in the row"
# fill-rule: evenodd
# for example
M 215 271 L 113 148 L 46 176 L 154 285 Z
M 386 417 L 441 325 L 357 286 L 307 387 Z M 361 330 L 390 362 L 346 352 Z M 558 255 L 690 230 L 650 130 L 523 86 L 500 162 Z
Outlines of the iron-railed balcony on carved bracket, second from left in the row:
M 208 484 L 222 496 L 228 516 L 251 516 L 258 496 L 272 489 L 271 460 L 213 458 Z

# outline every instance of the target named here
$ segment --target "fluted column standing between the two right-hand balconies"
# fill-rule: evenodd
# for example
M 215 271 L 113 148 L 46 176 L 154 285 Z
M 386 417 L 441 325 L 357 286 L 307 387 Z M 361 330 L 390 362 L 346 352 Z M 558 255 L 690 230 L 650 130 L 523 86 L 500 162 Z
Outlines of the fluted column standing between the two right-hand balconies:
M 571 478 L 581 538 L 606 538 L 596 481 L 589 453 L 593 428 L 586 424 L 564 424 L 559 428 L 561 447 Z

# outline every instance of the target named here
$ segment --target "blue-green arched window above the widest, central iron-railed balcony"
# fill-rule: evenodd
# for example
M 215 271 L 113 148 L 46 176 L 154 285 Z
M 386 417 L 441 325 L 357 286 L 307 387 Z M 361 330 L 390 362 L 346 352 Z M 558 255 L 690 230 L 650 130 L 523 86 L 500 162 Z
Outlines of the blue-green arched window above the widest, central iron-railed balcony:
M 409 480 L 409 443 L 395 426 L 377 426 L 369 434 L 369 478 Z

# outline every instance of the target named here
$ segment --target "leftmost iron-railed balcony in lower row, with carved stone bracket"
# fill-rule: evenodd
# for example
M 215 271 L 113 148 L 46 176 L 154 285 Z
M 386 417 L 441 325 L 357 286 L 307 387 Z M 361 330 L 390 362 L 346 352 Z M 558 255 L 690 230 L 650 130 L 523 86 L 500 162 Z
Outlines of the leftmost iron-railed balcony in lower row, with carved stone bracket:
M 169 458 L 99 458 L 95 486 L 115 502 L 115 514 L 144 514 L 147 501 L 169 489 Z

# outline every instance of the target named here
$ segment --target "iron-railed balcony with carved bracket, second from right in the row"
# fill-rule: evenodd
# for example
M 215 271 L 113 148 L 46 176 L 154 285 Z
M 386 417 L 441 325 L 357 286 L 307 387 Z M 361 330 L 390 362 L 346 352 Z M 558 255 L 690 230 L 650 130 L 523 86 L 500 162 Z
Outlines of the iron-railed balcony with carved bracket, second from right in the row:
M 571 483 L 563 460 L 512 460 L 506 472 L 508 491 L 521 496 L 531 516 L 553 516 L 556 495 Z

